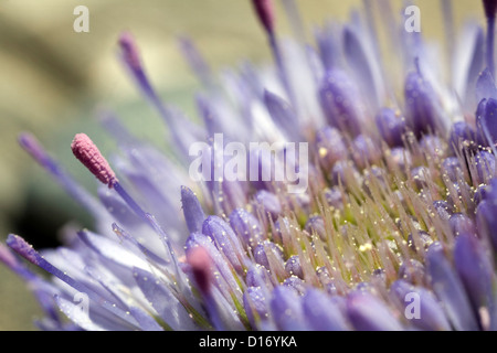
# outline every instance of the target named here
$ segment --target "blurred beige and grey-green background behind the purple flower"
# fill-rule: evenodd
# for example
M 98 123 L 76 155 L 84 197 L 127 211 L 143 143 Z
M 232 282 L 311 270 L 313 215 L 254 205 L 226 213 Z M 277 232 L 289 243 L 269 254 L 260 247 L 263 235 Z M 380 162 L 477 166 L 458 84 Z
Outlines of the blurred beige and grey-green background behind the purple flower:
M 377 1 L 377 0 L 366 0 Z M 277 26 L 289 32 L 281 1 Z M 325 19 L 346 19 L 360 0 L 297 0 L 309 34 Z M 393 1 L 401 17 L 403 1 Z M 422 31 L 442 38 L 440 2 L 415 2 Z M 89 9 L 89 33 L 75 33 L 73 10 Z M 456 24 L 463 17 L 483 21 L 480 3 L 453 1 Z M 265 38 L 248 0 L 0 0 L 0 239 L 9 233 L 36 247 L 56 245 L 57 229 L 91 220 L 18 147 L 20 131 L 32 131 L 76 178 L 95 181 L 72 158 L 76 132 L 87 132 L 104 151 L 113 148 L 95 121 L 95 107 L 115 109 L 138 135 L 160 143 L 160 119 L 140 99 L 117 60 L 116 39 L 134 33 L 154 84 L 168 101 L 193 113 L 198 83 L 176 41 L 188 34 L 214 69 L 244 58 L 269 60 Z M 40 314 L 24 285 L 0 266 L 0 330 L 33 330 Z

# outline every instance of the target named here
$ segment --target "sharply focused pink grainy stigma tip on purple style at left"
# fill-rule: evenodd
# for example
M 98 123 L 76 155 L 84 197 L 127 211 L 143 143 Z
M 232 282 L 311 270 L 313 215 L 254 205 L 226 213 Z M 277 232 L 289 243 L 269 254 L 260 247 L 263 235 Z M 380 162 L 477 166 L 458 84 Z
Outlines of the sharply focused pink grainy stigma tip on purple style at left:
M 77 133 L 71 143 L 74 156 L 83 163 L 101 182 L 109 189 L 117 182 L 116 174 L 110 169 L 107 160 L 86 133 Z

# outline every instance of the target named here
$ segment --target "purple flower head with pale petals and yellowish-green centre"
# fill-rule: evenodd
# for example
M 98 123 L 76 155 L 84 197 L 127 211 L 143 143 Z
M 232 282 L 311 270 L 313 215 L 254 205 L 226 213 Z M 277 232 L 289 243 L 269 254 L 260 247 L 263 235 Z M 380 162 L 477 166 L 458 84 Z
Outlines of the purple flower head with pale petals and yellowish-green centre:
M 268 68 L 245 63 L 219 79 L 179 39 L 202 84 L 199 119 L 160 99 L 123 33 L 119 58 L 168 146 L 104 114 L 118 153 L 107 160 L 83 132 L 71 143 L 95 192 L 73 179 L 83 169 L 19 137 L 95 221 L 54 249 L 13 234 L 0 244 L 0 261 L 43 309 L 40 329 L 497 330 L 497 1 L 483 1 L 486 30 L 472 22 L 450 45 L 448 57 L 469 51 L 457 65 L 436 62 L 421 33 L 388 15 L 389 1 L 379 6 L 395 55 L 382 55 L 367 1 L 309 44 L 295 3 L 283 3 L 295 39 L 279 38 L 271 0 L 252 0 Z M 205 180 L 192 178 L 193 159 Z

